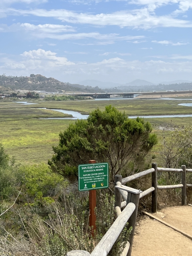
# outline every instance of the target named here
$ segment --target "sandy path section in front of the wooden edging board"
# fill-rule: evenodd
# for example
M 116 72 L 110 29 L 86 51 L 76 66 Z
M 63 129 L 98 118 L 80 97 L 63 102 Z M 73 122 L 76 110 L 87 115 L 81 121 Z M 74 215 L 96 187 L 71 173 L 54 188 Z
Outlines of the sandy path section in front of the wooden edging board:
M 157 220 L 142 219 L 136 226 L 132 256 L 164 255 L 191 256 L 192 240 Z

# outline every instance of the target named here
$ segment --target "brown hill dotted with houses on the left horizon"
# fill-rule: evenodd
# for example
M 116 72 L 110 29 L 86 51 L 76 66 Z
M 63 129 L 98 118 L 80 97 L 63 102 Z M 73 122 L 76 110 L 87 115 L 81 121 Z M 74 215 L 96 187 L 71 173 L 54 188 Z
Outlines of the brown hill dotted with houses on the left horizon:
M 40 74 L 30 76 L 0 76 L 0 86 L 11 88 L 12 90 L 36 90 L 46 92 L 81 91 L 81 92 L 104 92 L 102 89 L 80 84 L 70 84 L 60 82 L 52 77 L 46 78 Z

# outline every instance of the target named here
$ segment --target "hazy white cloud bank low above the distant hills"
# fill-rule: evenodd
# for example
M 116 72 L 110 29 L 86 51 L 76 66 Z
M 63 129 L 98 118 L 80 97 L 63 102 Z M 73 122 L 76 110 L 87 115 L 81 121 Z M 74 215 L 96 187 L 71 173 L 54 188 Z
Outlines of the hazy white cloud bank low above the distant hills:
M 177 60 L 184 59 L 186 61 Z M 161 81 L 162 76 L 167 80 L 181 79 L 192 76 L 192 56 L 171 56 L 169 61 L 126 61 L 122 58 L 105 58 L 99 62 L 73 63 L 55 52 L 42 49 L 24 52 L 18 56 L 0 56 L 0 72 L 20 75 L 31 73 L 52 76 L 59 80 L 72 81 L 98 79 L 111 82 L 126 83 L 135 79 Z

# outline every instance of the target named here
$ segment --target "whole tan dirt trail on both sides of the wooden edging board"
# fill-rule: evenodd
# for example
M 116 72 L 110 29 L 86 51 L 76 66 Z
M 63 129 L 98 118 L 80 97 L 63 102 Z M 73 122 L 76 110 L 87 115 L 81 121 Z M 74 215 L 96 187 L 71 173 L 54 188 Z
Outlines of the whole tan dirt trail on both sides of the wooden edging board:
M 155 214 L 192 235 L 192 206 L 170 207 Z M 132 256 L 191 256 L 192 240 L 157 220 L 143 218 L 136 226 Z

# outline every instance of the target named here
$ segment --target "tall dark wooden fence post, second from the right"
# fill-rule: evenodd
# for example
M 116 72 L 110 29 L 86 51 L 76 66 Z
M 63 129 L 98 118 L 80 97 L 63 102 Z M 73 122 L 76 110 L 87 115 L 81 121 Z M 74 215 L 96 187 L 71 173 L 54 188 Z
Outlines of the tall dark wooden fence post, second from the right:
M 154 187 L 155 190 L 152 191 L 151 211 L 157 212 L 157 164 L 152 163 L 152 168 L 155 169 L 155 171 L 152 172 L 152 187 Z

